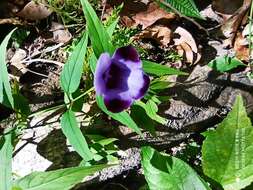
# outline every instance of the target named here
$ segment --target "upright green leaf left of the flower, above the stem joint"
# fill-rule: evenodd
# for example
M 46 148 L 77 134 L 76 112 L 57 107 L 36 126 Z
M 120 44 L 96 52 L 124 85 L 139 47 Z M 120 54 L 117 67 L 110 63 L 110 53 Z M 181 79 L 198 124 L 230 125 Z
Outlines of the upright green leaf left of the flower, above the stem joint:
M 64 92 L 71 94 L 79 87 L 83 72 L 84 57 L 87 50 L 88 34 L 83 35 L 80 42 L 75 47 L 73 53 L 68 58 L 61 72 L 61 87 Z

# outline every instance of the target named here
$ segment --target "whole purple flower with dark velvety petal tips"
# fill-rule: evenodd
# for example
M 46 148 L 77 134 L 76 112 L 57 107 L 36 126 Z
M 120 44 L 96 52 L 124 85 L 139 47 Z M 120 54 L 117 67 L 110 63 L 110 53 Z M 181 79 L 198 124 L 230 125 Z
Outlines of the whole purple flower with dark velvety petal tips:
M 130 107 L 134 100 L 145 95 L 149 83 L 140 57 L 132 46 L 118 48 L 112 57 L 108 53 L 100 55 L 94 86 L 109 111 L 117 113 Z

